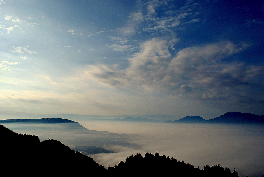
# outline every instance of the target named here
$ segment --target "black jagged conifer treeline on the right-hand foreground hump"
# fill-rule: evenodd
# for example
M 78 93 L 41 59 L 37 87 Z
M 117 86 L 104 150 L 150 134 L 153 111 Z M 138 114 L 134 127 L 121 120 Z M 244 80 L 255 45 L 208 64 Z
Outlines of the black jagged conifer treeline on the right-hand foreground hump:
M 125 162 L 121 161 L 114 167 L 108 166 L 109 174 L 122 175 L 131 172 L 131 176 L 140 175 L 161 175 L 161 176 L 203 176 L 203 177 L 238 177 L 237 171 L 234 169 L 231 173 L 229 168 L 223 168 L 220 165 L 206 165 L 204 169 L 194 168 L 191 164 L 176 160 L 173 157 L 162 155 L 157 152 L 155 155 L 147 152 L 143 157 L 141 154 L 130 155 Z

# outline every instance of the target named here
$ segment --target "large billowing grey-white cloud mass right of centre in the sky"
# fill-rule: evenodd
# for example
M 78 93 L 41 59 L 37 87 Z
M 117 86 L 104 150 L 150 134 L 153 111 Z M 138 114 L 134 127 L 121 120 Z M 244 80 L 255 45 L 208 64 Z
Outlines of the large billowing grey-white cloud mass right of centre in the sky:
M 120 47 L 117 46 L 116 47 Z M 167 40 L 152 39 L 129 58 L 129 66 L 90 66 L 97 80 L 114 87 L 164 90 L 176 97 L 204 101 L 253 102 L 263 99 L 263 65 L 225 62 L 224 59 L 245 50 L 248 44 L 221 41 L 206 46 L 182 49 L 175 56 Z M 121 50 L 116 48 L 116 50 Z

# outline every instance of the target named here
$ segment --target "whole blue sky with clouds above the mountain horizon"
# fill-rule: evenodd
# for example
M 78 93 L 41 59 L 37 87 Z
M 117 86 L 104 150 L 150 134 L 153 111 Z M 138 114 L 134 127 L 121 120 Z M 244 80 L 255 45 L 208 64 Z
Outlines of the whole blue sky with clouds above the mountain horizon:
M 264 115 L 264 3 L 0 0 L 1 119 Z

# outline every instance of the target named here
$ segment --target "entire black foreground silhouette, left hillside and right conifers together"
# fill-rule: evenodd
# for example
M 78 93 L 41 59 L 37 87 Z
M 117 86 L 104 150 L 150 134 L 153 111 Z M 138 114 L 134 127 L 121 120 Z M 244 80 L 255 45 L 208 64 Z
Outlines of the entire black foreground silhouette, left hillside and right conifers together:
M 41 142 L 38 136 L 22 135 L 0 125 L 1 176 L 186 176 L 238 177 L 234 169 L 220 165 L 204 169 L 177 161 L 173 157 L 147 152 L 130 155 L 125 162 L 105 169 L 91 157 L 75 152 L 57 140 Z M 263 176 L 264 177 L 264 176 Z

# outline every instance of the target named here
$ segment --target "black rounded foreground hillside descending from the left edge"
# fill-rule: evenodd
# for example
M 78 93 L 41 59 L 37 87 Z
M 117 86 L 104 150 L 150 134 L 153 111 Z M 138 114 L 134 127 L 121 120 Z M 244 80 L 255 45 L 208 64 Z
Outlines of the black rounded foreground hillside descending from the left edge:
M 100 176 L 106 169 L 57 140 L 17 134 L 0 125 L 1 176 Z

